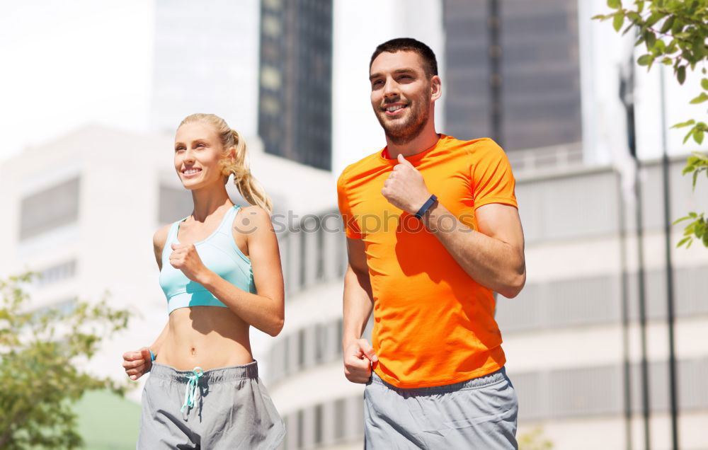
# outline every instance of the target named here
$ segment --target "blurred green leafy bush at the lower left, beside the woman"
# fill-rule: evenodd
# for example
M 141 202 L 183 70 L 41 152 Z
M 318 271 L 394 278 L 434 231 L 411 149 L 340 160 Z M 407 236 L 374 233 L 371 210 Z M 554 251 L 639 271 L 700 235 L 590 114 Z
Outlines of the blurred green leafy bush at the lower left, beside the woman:
M 130 314 L 105 299 L 72 311 L 30 310 L 33 274 L 0 279 L 0 448 L 76 449 L 73 403 L 86 391 L 126 386 L 81 370 L 103 337 L 127 327 Z

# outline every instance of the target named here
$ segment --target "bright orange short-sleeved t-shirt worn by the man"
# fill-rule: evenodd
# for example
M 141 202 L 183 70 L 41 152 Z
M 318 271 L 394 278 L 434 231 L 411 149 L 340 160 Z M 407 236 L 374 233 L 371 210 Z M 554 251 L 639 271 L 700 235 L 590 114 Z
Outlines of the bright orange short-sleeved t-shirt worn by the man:
M 442 386 L 501 369 L 506 358 L 490 289 L 474 281 L 421 221 L 381 194 L 396 166 L 387 149 L 344 169 L 337 182 L 348 238 L 365 243 L 374 296 L 376 373 L 399 388 Z M 440 204 L 476 229 L 476 208 L 517 207 L 506 154 L 491 139 L 438 142 L 406 158 Z

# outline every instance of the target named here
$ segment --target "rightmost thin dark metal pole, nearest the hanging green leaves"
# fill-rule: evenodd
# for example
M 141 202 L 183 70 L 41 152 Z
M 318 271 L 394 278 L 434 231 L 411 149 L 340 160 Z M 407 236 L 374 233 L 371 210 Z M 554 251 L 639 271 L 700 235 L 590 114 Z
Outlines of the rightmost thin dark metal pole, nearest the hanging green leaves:
M 674 309 L 673 309 L 673 265 L 671 263 L 671 207 L 669 190 L 669 161 L 666 145 L 666 92 L 664 87 L 663 65 L 659 67 L 659 83 L 661 84 L 661 173 L 664 195 L 664 250 L 666 251 L 666 323 L 668 325 L 668 383 L 669 403 L 671 411 L 671 446 L 678 450 L 678 396 L 676 388 L 676 354 L 674 342 Z

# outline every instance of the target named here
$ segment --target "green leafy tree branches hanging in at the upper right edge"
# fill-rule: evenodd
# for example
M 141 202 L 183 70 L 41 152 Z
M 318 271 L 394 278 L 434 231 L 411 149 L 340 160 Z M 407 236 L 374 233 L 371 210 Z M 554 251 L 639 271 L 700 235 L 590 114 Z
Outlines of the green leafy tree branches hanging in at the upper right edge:
M 628 2 L 626 2 L 628 3 Z M 700 66 L 702 74 L 706 75 L 706 60 L 708 59 L 708 0 L 634 0 L 631 6 L 625 8 L 622 0 L 607 0 L 607 6 L 615 10 L 609 14 L 599 14 L 593 19 L 600 21 L 612 20 L 612 26 L 617 32 L 624 28 L 622 34 L 636 30 L 638 37 L 635 46 L 644 44 L 646 53 L 637 59 L 637 64 L 650 70 L 654 62 L 673 67 L 673 74 L 679 83 L 686 80 L 686 71 L 694 71 Z M 692 104 L 708 100 L 708 78 L 702 78 L 698 95 L 690 100 Z M 686 120 L 673 125 L 672 128 L 690 127 L 683 139 L 688 139 L 701 145 L 704 135 L 708 132 L 706 122 Z M 695 190 L 698 175 L 705 172 L 708 175 L 708 155 L 696 152 L 688 158 L 683 174 L 692 173 Z M 690 247 L 694 238 L 708 247 L 708 223 L 704 213 L 691 212 L 674 222 L 690 221 L 684 229 L 684 238 L 678 246 Z

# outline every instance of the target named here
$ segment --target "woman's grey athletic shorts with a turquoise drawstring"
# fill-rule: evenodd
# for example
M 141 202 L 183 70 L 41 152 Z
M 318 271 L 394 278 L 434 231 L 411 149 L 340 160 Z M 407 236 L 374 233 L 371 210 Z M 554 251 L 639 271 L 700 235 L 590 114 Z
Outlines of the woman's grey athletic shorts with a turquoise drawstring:
M 203 372 L 154 363 L 142 392 L 138 450 L 275 449 L 285 436 L 255 361 Z M 185 392 L 193 405 L 185 406 Z

